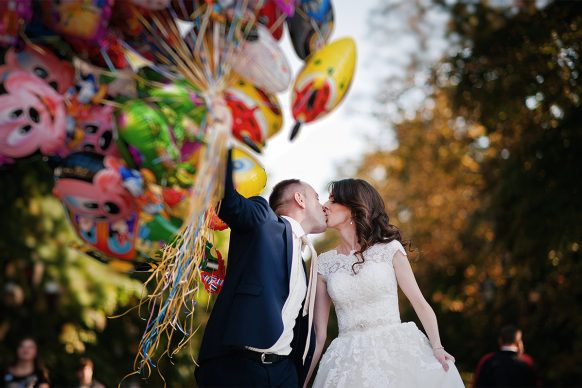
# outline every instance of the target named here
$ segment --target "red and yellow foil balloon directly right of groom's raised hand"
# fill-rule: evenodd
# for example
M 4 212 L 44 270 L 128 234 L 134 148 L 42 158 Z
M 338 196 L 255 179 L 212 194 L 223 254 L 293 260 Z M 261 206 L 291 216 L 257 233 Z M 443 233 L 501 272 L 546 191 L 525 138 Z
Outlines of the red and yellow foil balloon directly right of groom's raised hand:
M 283 114 L 277 98 L 238 79 L 225 92 L 232 112 L 232 133 L 256 152 L 261 152 L 267 138 L 283 125 Z

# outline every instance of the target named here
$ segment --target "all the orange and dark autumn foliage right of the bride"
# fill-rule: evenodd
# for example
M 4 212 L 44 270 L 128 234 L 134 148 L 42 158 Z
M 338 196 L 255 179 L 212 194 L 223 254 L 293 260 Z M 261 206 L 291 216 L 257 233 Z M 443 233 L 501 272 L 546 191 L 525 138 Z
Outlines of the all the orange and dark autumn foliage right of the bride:
M 463 369 L 516 323 L 543 382 L 572 385 L 582 377 L 582 4 L 434 4 L 450 23 L 432 95 L 396 123 L 398 148 L 371 152 L 360 174 L 420 247 L 419 283 Z

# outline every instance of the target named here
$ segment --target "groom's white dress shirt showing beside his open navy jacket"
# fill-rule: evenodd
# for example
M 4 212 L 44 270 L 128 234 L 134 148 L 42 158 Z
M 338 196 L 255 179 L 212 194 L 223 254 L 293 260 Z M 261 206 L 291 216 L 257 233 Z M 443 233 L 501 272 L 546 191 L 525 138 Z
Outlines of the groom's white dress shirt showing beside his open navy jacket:
M 287 356 L 291 353 L 291 341 L 293 341 L 293 328 L 295 327 L 295 319 L 301 310 L 301 304 L 307 294 L 307 279 L 301 264 L 301 237 L 305 235 L 305 231 L 299 224 L 291 217 L 282 216 L 291 224 L 293 252 L 291 259 L 291 276 L 289 277 L 289 296 L 283 305 L 281 316 L 283 319 L 283 333 L 281 337 L 268 349 L 257 349 L 248 347 L 262 353 L 274 353 Z

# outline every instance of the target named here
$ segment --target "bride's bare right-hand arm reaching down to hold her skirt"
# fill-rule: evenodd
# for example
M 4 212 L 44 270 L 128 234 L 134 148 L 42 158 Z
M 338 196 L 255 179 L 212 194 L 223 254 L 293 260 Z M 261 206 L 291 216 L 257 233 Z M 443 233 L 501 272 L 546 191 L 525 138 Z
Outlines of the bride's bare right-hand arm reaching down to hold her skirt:
M 449 370 L 447 360 L 454 362 L 455 358 L 447 353 L 441 345 L 436 315 L 432 307 L 430 307 L 422 295 L 418 283 L 416 283 L 408 258 L 404 256 L 402 252 L 397 251 L 396 254 L 394 254 L 392 264 L 394 266 L 398 285 L 412 304 L 420 322 L 422 322 L 422 326 L 426 331 L 435 357 L 442 364 L 444 370 Z

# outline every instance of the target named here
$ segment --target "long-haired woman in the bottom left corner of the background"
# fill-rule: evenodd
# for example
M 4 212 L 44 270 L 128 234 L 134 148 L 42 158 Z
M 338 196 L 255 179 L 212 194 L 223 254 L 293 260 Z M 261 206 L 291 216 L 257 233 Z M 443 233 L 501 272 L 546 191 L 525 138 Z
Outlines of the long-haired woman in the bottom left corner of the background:
M 48 371 L 38 357 L 38 345 L 31 337 L 24 337 L 16 347 L 16 359 L 2 372 L 2 387 L 49 388 Z

